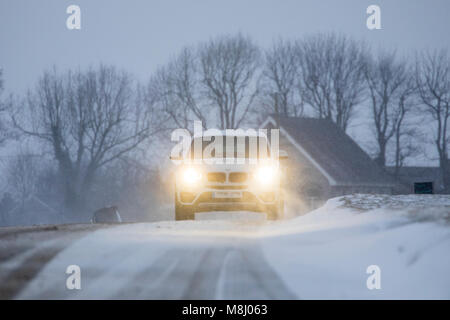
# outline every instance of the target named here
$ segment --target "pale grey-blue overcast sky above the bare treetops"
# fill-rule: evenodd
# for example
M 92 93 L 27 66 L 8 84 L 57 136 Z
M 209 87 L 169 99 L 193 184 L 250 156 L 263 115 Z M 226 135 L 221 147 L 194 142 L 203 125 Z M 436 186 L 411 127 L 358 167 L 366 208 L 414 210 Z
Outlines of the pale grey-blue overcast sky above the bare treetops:
M 81 30 L 66 28 L 70 4 L 81 7 Z M 382 30 L 366 27 L 370 4 Z M 0 0 L 0 68 L 17 93 L 52 65 L 112 63 L 145 80 L 184 45 L 239 31 L 262 46 L 337 31 L 406 53 L 449 47 L 449 16 L 449 0 Z

